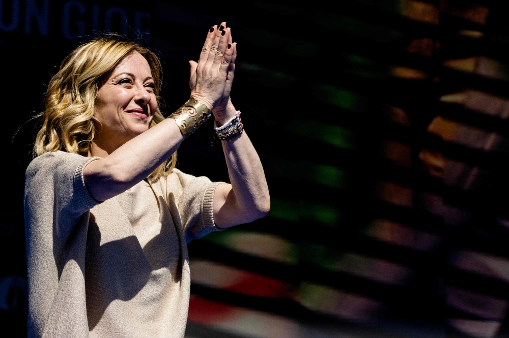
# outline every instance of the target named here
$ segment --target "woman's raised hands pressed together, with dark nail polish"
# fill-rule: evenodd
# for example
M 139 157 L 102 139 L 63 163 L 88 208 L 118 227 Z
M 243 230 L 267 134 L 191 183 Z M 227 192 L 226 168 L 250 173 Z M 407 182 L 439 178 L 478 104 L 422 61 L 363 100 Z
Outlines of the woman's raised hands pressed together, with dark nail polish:
M 222 22 L 210 27 L 198 62 L 189 61 L 191 96 L 212 110 L 218 125 L 235 114 L 230 92 L 236 57 L 237 43 L 232 42 L 231 29 Z

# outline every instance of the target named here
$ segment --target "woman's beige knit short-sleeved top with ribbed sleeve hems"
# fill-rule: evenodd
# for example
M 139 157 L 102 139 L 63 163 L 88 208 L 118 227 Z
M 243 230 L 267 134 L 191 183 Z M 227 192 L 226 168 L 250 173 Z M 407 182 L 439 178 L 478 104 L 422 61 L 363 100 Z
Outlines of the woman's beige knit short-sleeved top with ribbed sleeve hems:
M 183 337 L 187 242 L 214 225 L 218 183 L 174 169 L 95 201 L 96 158 L 45 153 L 26 170 L 29 337 Z

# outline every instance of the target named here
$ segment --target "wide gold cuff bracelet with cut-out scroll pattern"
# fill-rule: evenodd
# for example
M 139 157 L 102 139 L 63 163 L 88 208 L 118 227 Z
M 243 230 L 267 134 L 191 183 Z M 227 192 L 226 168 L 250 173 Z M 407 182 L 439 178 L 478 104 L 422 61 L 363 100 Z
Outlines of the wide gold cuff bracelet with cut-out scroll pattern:
M 212 115 L 212 111 L 206 105 L 196 101 L 195 98 L 190 98 L 182 107 L 177 109 L 176 112 L 169 115 L 168 118 L 175 119 L 180 132 L 184 138 L 191 135 L 198 127 L 203 125 Z

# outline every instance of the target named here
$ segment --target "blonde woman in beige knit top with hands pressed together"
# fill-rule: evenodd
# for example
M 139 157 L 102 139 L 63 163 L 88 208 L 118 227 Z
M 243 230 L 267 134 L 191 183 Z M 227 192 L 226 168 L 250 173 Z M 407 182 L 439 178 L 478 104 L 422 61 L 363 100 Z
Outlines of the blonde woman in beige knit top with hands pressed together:
M 26 171 L 29 336 L 184 336 L 187 242 L 270 205 L 230 100 L 235 58 L 230 28 L 211 27 L 199 62 L 189 62 L 191 99 L 167 119 L 148 49 L 102 38 L 64 60 Z M 210 110 L 231 185 L 174 169 Z

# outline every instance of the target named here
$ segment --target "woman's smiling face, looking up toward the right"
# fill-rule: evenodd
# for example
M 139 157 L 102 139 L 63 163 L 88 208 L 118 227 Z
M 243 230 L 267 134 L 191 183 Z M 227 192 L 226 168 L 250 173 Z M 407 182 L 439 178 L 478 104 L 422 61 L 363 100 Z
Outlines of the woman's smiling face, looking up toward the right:
M 155 82 L 145 57 L 133 51 L 107 73 L 97 93 L 93 143 L 110 153 L 147 131 L 157 109 Z

